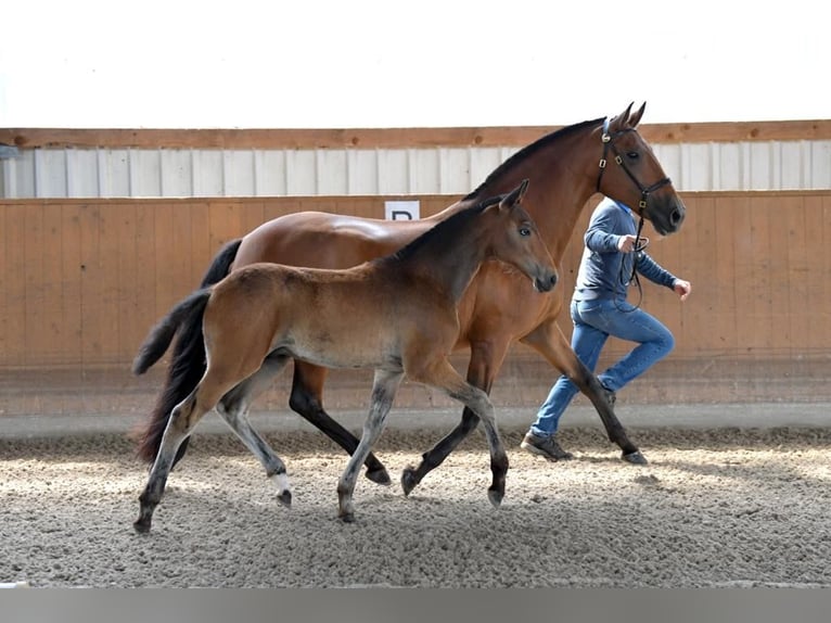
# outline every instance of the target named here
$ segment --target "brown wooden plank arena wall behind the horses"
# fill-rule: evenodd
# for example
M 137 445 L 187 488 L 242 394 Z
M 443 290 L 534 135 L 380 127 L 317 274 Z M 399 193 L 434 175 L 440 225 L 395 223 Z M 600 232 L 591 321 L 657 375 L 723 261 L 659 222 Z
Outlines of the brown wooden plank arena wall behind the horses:
M 165 366 L 149 379 L 132 379 L 138 345 L 199 284 L 225 242 L 297 211 L 383 218 L 391 199 L 419 199 L 426 216 L 457 198 L 0 201 L 0 415 L 133 408 L 130 396 L 141 408 Z M 568 291 L 598 199 L 584 211 L 566 255 L 560 287 Z M 649 226 L 647 232 L 652 256 L 689 279 L 693 292 L 681 304 L 672 292 L 644 285 L 644 308 L 677 342 L 665 361 L 634 384 L 628 399 L 829 399 L 831 191 L 692 192 L 683 199 L 688 217 L 679 233 L 659 239 Z M 567 316 L 563 327 L 568 334 Z M 613 341 L 604 357 L 624 347 Z M 554 376 L 541 358 L 516 346 L 495 398 L 536 404 Z M 369 377 L 332 379 L 330 405 L 366 403 Z M 99 394 L 105 397 L 99 400 Z M 62 397 L 50 403 L 50 395 Z M 399 405 L 423 399 L 445 404 L 413 389 Z M 274 395 L 261 407 L 270 400 L 286 404 L 284 394 Z

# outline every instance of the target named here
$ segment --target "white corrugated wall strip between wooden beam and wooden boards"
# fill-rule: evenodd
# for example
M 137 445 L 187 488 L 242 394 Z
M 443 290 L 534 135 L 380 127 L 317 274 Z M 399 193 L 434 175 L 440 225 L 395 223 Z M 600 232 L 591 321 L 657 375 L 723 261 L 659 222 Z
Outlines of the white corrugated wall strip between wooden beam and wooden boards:
M 831 141 L 654 144 L 681 191 L 831 188 Z M 465 194 L 519 148 L 35 149 L 0 161 L 10 199 Z

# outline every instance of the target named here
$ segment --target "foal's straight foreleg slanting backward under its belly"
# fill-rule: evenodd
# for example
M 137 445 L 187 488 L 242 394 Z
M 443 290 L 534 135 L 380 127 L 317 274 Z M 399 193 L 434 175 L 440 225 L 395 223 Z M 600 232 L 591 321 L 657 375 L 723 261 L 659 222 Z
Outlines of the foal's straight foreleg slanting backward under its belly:
M 363 422 L 363 433 L 358 447 L 349 457 L 349 462 L 346 463 L 346 469 L 337 481 L 337 514 L 346 523 L 355 521 L 353 494 L 360 466 L 363 465 L 373 444 L 381 435 L 381 431 L 384 430 L 384 420 L 393 406 L 395 394 L 402 378 L 404 372 L 400 370 L 375 370 L 369 414 Z

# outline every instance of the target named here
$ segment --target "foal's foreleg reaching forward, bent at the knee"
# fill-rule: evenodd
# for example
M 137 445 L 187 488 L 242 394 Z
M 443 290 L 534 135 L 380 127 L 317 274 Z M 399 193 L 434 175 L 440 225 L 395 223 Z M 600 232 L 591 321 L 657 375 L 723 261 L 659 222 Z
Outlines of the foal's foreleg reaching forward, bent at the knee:
M 494 506 L 499 506 L 504 497 L 504 482 L 508 474 L 508 455 L 496 427 L 494 405 L 488 395 L 478 387 L 468 383 L 447 359 L 435 361 L 418 371 L 407 368 L 407 376 L 417 382 L 442 390 L 470 409 L 482 420 L 485 427 L 488 446 L 490 447 L 490 472 L 493 481 L 488 487 L 488 499 Z

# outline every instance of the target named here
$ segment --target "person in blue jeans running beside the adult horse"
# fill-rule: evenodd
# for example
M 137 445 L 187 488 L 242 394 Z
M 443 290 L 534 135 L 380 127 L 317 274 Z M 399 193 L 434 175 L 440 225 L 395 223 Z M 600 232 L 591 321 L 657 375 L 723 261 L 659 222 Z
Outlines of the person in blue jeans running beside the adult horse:
M 649 240 L 638 238 L 635 215 L 625 204 L 604 198 L 595 208 L 584 236 L 584 250 L 571 302 L 574 323 L 572 348 L 592 372 L 610 335 L 638 345 L 598 374 L 614 404 L 616 392 L 663 359 L 675 346 L 675 338 L 660 320 L 627 302 L 627 291 L 638 275 L 674 290 L 686 301 L 689 281 L 675 277 L 643 250 Z M 640 285 L 640 284 L 638 284 Z M 561 376 L 537 419 L 523 438 L 523 449 L 549 460 L 567 460 L 573 455 L 557 441 L 560 418 L 577 386 Z

